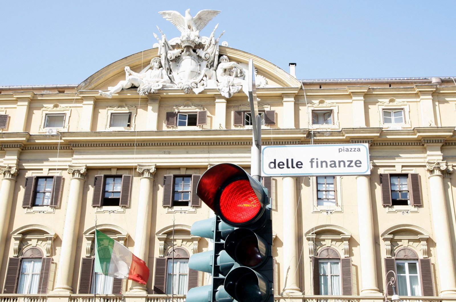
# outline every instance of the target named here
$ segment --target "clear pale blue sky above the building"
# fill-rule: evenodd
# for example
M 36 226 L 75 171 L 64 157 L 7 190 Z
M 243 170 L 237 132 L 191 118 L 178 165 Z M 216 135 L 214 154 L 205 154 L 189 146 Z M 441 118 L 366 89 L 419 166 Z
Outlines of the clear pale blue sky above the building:
M 129 3 L 129 4 L 127 4 Z M 3 1 L 0 86 L 79 84 L 155 43 L 157 12 L 221 10 L 220 39 L 299 79 L 456 76 L 456 1 Z

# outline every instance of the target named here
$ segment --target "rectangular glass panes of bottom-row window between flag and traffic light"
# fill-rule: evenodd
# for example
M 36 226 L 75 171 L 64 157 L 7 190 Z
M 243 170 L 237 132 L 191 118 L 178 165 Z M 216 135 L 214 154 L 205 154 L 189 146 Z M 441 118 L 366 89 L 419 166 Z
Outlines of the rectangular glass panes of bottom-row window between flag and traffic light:
M 188 259 L 168 259 L 166 294 L 185 295 L 188 291 Z

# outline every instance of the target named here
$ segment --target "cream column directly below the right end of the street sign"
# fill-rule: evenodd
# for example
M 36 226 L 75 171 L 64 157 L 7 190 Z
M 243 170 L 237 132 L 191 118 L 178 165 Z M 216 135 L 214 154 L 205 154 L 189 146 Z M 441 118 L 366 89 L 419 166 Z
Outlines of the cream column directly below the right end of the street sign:
M 377 286 L 377 266 L 375 262 L 375 238 L 373 229 L 370 176 L 356 177 L 358 189 L 358 228 L 361 270 L 361 295 L 379 294 Z

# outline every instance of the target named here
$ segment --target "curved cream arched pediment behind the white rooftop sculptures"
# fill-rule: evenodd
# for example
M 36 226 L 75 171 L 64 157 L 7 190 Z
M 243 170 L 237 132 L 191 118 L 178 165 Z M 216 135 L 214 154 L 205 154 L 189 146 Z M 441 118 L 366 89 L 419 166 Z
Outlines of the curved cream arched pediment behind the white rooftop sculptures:
M 299 89 L 301 86 L 300 81 L 295 79 L 285 70 L 282 70 L 273 63 L 256 55 L 235 48 L 220 46 L 219 56 L 222 55 L 228 55 L 230 61 L 241 63 L 241 65 L 245 64 L 244 66 L 247 66 L 249 59 L 253 59 L 258 75 L 264 76 L 268 83 L 267 87 L 297 87 L 297 89 Z M 157 56 L 159 56 L 158 48 L 152 48 L 124 57 L 89 76 L 79 84 L 77 90 L 107 90 L 108 87 L 115 86 L 119 81 L 125 80 L 125 66 L 130 66 L 131 70 L 139 73 L 150 65 L 150 60 L 152 58 Z M 214 91 L 217 92 L 215 89 Z M 160 93 L 160 90 L 158 93 Z

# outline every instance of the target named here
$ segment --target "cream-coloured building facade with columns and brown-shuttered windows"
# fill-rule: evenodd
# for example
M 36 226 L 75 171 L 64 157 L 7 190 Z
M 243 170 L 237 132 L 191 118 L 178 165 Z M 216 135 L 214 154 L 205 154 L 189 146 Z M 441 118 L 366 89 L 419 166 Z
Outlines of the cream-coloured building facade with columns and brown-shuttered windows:
M 217 89 L 98 95 L 124 79 L 124 66 L 141 70 L 157 55 L 130 55 L 79 85 L 0 86 L 1 301 L 91 299 L 95 224 L 150 268 L 146 286 L 97 276 L 97 298 L 171 299 L 173 256 L 175 299 L 210 282 L 186 266 L 211 245 L 190 234 L 212 216 L 196 184 L 218 163 L 249 171 L 249 102 Z M 299 81 L 241 50 L 220 46 L 220 55 L 253 58 L 267 80 L 257 88 L 263 145 L 369 146 L 370 176 L 266 181 L 275 299 L 383 301 L 391 270 L 405 300 L 454 299 L 455 82 Z M 176 126 L 180 116 L 187 126 Z

